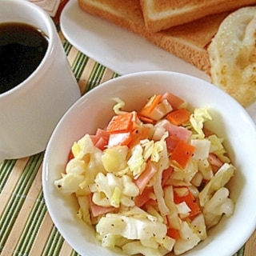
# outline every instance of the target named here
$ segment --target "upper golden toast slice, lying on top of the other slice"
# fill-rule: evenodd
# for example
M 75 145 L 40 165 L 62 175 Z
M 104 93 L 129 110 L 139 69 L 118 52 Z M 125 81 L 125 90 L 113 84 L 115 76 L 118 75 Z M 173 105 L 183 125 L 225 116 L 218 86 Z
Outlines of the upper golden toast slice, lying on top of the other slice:
M 255 0 L 140 0 L 146 29 L 166 30 L 211 14 L 256 4 Z

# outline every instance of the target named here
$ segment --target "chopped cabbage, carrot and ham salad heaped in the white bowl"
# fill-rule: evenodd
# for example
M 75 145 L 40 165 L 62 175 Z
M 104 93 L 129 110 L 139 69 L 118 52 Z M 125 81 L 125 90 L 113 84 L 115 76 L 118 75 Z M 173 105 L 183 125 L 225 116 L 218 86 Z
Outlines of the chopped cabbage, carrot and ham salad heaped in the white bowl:
M 74 142 L 54 186 L 75 194 L 77 217 L 95 226 L 102 246 L 182 254 L 234 212 L 226 184 L 236 169 L 223 138 L 206 129 L 207 108 L 189 110 L 169 92 L 141 110 L 114 102 L 107 126 Z

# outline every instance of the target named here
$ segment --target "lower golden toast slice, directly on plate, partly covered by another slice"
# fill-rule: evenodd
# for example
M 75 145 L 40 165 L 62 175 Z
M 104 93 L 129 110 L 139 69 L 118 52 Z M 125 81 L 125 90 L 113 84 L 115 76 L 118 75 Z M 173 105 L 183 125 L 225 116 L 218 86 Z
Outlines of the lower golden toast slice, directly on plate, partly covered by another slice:
M 78 0 L 87 13 L 122 26 L 210 74 L 206 47 L 228 13 L 214 14 L 157 33 L 146 30 L 139 0 Z

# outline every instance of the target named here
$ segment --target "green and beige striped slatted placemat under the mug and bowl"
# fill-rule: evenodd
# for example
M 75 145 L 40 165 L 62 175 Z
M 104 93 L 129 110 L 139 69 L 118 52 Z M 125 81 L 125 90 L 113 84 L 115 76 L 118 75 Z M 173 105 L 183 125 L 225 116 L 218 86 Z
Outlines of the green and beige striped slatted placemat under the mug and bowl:
M 118 76 L 60 36 L 82 94 Z M 44 152 L 0 164 L 1 256 L 78 255 L 62 238 L 47 212 L 42 195 L 43 155 Z M 235 256 L 247 256 L 244 248 Z

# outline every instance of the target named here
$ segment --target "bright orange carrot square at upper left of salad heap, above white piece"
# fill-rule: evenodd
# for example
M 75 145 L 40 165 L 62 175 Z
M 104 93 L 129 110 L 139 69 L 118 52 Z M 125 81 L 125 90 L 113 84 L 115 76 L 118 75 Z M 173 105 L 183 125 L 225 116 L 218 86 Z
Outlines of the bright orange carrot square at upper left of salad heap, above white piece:
M 133 113 L 118 114 L 110 120 L 106 131 L 110 134 L 126 133 L 132 128 Z

